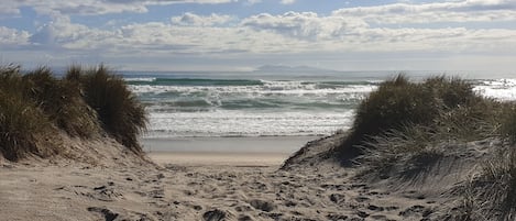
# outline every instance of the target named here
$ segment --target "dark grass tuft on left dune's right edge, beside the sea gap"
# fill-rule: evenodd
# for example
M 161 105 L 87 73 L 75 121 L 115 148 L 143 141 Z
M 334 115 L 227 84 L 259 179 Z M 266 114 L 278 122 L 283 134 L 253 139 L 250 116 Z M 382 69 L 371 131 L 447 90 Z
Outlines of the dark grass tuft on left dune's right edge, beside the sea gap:
M 74 66 L 65 79 L 78 81 L 85 101 L 111 136 L 131 151 L 142 152 L 138 135 L 147 123 L 145 110 L 120 76 L 103 65 L 87 70 Z

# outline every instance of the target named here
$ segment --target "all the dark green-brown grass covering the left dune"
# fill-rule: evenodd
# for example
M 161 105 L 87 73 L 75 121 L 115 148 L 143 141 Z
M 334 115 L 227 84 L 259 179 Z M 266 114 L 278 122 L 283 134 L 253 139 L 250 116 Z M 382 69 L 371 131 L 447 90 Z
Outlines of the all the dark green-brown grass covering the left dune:
M 138 99 L 102 65 L 88 70 L 73 66 L 63 79 L 46 67 L 0 67 L 0 154 L 9 161 L 58 154 L 61 131 L 80 139 L 106 131 L 141 154 L 136 137 L 145 124 Z

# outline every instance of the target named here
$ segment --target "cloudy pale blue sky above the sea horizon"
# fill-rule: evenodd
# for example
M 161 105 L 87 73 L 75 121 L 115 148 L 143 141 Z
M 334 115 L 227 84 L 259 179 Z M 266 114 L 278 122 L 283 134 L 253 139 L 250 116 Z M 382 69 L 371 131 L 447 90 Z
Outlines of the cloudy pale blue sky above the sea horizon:
M 2 0 L 0 59 L 516 75 L 516 0 Z

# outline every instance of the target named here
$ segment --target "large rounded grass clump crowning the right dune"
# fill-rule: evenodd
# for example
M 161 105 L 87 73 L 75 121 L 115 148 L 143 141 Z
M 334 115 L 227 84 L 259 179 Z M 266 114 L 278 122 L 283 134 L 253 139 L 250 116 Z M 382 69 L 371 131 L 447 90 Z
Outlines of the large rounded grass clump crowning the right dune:
M 411 82 L 398 75 L 361 102 L 339 152 L 349 158 L 371 150 L 396 155 L 427 150 L 433 142 L 490 136 L 497 129 L 496 106 L 498 102 L 476 95 L 471 84 L 459 78 L 439 76 Z

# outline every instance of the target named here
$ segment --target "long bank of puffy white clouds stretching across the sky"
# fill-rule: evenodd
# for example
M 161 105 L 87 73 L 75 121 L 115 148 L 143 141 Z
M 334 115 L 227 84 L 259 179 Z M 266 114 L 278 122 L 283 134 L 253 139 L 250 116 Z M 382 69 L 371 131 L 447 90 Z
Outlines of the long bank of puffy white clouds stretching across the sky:
M 186 19 L 185 19 L 186 16 Z M 2 42 L 24 38 L 28 44 L 74 51 L 105 51 L 119 55 L 299 53 L 299 52 L 512 52 L 516 30 L 465 27 L 372 27 L 366 22 L 311 12 L 257 14 L 241 23 L 220 25 L 231 16 L 186 13 L 172 23 L 134 23 L 113 30 L 74 24 L 66 16 L 29 36 L 7 30 Z M 182 25 L 177 25 L 177 24 Z M 11 36 L 11 37 L 8 37 Z M 496 44 L 493 44 L 496 42 Z

